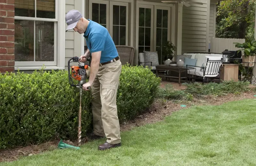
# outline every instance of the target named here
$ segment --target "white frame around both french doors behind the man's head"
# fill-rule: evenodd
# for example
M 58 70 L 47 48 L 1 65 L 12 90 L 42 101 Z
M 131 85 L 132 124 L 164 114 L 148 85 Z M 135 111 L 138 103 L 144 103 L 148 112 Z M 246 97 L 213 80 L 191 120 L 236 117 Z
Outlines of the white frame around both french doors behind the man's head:
M 110 12 L 109 11 L 110 3 L 111 2 L 113 2 L 113 4 L 116 4 L 116 3 L 128 3 L 128 6 L 127 6 L 128 8 L 126 10 L 126 12 L 128 12 L 128 17 L 126 17 L 126 19 L 128 19 L 127 22 L 126 22 L 126 24 L 128 24 L 128 26 L 127 26 L 128 30 L 126 31 L 126 33 L 128 35 L 127 36 L 128 42 L 127 42 L 126 45 L 133 46 L 133 29 L 134 29 L 133 28 L 133 20 L 134 20 L 133 16 L 135 14 L 133 12 L 134 11 L 134 0 L 85 0 L 85 1 L 89 1 L 89 19 L 92 19 L 92 3 L 103 3 L 103 4 L 107 4 L 108 5 L 107 6 L 107 17 L 106 17 L 107 23 L 108 23 L 108 26 L 106 26 L 106 27 L 107 27 L 108 31 L 110 29 L 110 19 L 111 19 L 111 18 L 109 18 L 110 17 L 110 14 L 109 14 L 109 12 Z M 129 14 L 129 12 L 130 12 L 130 14 Z M 113 20 L 112 20 L 112 22 L 113 22 Z M 111 35 L 111 37 L 112 37 L 112 35 Z M 84 42 L 84 43 L 86 45 L 86 42 Z

